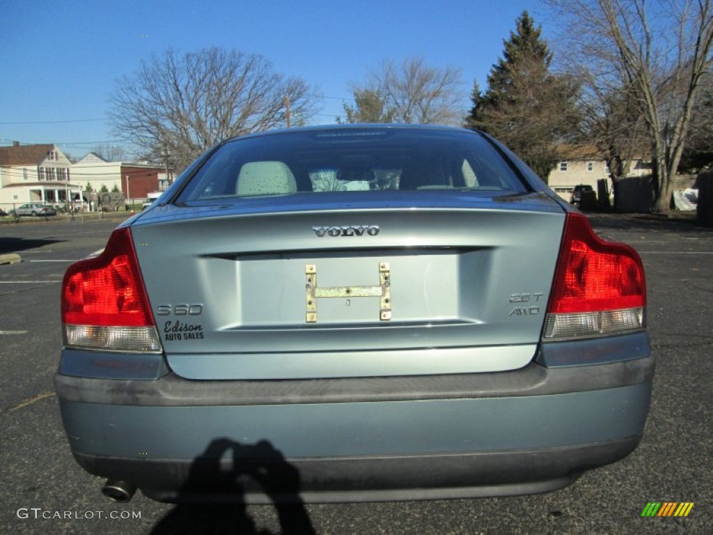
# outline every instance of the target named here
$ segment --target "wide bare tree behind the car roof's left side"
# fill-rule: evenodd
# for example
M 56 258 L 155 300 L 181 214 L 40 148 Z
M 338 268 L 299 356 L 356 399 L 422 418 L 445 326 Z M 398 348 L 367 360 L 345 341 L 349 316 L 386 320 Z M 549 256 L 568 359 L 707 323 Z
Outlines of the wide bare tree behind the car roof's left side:
M 118 136 L 145 156 L 183 169 L 215 143 L 314 115 L 317 95 L 300 78 L 285 78 L 270 62 L 235 49 L 173 50 L 142 61 L 111 96 Z

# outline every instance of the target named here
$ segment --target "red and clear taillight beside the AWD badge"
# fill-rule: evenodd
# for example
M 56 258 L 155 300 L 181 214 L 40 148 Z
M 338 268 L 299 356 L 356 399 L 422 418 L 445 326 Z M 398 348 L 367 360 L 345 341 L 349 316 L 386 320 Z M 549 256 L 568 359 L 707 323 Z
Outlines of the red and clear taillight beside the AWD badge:
M 644 268 L 636 251 L 600 240 L 583 215 L 568 214 L 545 338 L 642 329 L 645 307 Z

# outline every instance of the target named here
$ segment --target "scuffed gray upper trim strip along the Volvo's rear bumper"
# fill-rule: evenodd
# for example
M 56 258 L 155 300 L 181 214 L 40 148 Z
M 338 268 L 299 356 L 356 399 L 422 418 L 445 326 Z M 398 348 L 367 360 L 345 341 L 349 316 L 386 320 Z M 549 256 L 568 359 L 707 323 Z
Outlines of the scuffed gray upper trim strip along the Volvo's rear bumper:
M 650 382 L 653 357 L 582 367 L 534 362 L 509 372 L 284 381 L 190 381 L 167 374 L 153 381 L 86 379 L 58 374 L 60 399 L 159 407 L 350 403 L 566 394 Z

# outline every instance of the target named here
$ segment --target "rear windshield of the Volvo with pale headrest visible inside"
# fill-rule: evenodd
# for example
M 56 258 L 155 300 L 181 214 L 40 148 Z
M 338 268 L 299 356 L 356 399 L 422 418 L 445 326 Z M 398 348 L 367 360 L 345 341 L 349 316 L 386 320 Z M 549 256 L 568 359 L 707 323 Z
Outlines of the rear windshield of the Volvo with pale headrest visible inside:
M 477 133 L 365 128 L 237 138 L 202 163 L 177 200 L 428 189 L 526 191 Z

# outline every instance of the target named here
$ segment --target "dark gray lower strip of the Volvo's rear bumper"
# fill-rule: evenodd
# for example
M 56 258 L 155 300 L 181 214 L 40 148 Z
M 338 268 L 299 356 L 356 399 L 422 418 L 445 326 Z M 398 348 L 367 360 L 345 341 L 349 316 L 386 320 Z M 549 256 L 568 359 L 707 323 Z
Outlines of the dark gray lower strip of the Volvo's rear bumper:
M 243 447 L 217 439 L 205 457 L 193 460 L 74 457 L 91 474 L 130 481 L 149 498 L 170 503 L 411 501 L 554 491 L 586 469 L 626 457 L 639 440 L 529 452 L 284 459 L 268 442 Z M 227 454 L 262 449 L 266 457 L 208 458 L 219 444 Z

